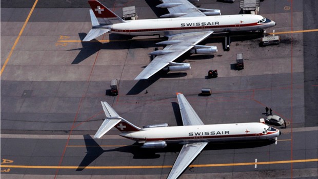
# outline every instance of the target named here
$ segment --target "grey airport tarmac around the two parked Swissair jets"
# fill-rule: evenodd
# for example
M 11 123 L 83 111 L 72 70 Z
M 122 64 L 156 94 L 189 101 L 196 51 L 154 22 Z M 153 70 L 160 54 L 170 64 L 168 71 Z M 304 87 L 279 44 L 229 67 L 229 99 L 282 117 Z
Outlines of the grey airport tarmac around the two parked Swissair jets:
M 158 1 L 101 2 L 118 15 L 136 6 L 140 19 L 166 13 L 155 8 Z M 240 13 L 239 4 L 194 2 L 223 15 Z M 105 117 L 100 101 L 137 126 L 182 125 L 181 92 L 205 124 L 257 122 L 268 106 L 287 128 L 279 127 L 276 142 L 209 144 L 180 178 L 317 178 L 317 6 L 262 1 L 260 14 L 277 23 L 279 45 L 262 48 L 255 34 L 235 35 L 227 52 L 212 35 L 202 44 L 217 53 L 177 60 L 190 71 L 134 81 L 163 39 L 105 34 L 82 43 L 91 29 L 86 1 L 2 1 L 1 177 L 166 178 L 181 146 L 141 149 L 116 129 L 91 136 Z M 236 53 L 244 55 L 244 70 L 232 68 Z M 205 79 L 210 69 L 218 78 Z M 107 95 L 111 79 L 119 80 L 116 97 Z M 199 95 L 202 87 L 212 95 Z

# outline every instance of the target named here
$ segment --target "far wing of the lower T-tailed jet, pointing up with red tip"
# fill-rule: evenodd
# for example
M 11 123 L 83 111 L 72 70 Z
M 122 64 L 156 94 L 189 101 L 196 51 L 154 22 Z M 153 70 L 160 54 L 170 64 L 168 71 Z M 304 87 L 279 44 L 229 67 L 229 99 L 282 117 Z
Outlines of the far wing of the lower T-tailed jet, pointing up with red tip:
M 204 125 L 186 97 L 181 93 L 177 93 L 176 96 L 178 98 L 183 125 Z

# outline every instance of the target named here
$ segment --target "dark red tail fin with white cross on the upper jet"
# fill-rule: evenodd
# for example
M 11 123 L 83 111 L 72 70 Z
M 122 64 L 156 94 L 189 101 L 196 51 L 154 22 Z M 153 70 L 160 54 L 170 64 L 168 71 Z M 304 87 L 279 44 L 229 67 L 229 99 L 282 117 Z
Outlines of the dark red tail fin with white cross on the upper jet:
M 95 17 L 97 18 L 97 21 L 100 25 L 112 25 L 126 22 L 99 1 L 90 0 L 88 3 L 91 6 L 92 12 L 95 14 Z

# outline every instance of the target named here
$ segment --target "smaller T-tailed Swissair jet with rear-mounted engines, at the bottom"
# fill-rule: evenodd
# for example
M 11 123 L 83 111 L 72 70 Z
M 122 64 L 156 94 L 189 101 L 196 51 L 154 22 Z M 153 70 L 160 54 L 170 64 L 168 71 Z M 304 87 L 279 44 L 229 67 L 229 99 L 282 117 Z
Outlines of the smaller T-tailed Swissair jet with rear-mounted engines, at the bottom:
M 120 136 L 134 140 L 143 148 L 164 148 L 169 143 L 183 147 L 167 178 L 177 178 L 211 141 L 268 140 L 281 132 L 264 123 L 233 123 L 204 125 L 185 96 L 177 93 L 183 126 L 168 127 L 168 124 L 154 124 L 137 127 L 120 117 L 107 103 L 101 102 L 106 119 L 94 138 L 101 138 L 112 127 L 122 133 Z M 260 120 L 261 121 L 261 120 Z

